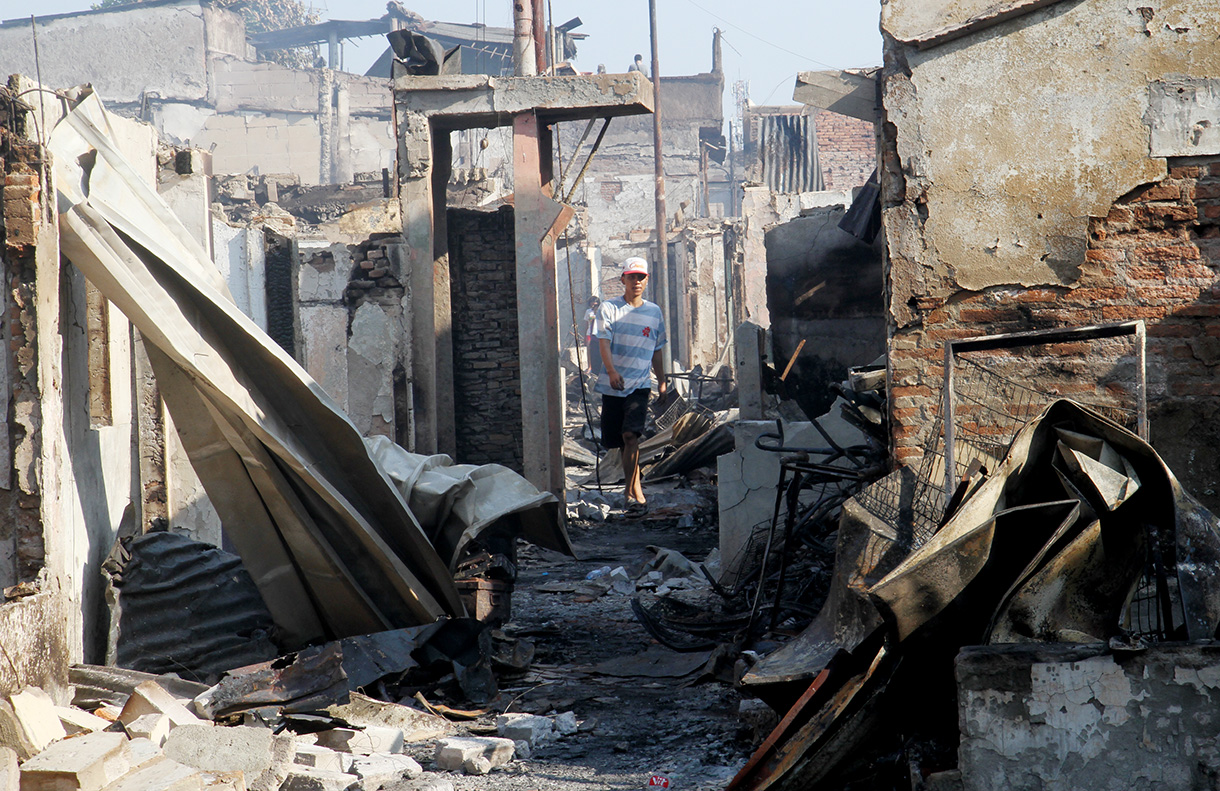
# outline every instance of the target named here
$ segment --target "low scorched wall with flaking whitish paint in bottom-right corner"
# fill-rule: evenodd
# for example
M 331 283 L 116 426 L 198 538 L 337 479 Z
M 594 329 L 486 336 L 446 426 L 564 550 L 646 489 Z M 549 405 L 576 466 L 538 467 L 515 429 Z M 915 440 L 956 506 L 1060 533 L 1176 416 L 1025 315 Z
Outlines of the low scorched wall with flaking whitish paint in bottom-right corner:
M 1215 787 L 1215 645 L 980 646 L 955 671 L 964 791 Z

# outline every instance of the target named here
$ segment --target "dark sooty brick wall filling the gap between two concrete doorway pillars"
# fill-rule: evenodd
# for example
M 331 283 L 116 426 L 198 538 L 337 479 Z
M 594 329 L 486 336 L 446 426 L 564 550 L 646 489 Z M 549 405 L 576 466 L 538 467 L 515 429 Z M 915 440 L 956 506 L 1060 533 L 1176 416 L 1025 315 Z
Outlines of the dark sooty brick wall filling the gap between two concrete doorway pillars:
M 449 210 L 458 461 L 522 471 L 512 209 Z

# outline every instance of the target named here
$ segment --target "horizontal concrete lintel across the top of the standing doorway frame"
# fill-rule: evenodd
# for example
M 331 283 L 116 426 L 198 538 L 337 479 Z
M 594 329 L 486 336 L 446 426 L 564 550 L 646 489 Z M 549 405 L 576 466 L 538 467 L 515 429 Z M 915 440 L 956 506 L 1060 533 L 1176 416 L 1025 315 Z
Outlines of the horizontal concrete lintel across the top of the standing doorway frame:
M 576 77 L 404 76 L 394 79 L 404 112 L 428 116 L 437 128 L 509 126 L 522 112 L 542 123 L 647 115 L 651 84 L 638 72 Z

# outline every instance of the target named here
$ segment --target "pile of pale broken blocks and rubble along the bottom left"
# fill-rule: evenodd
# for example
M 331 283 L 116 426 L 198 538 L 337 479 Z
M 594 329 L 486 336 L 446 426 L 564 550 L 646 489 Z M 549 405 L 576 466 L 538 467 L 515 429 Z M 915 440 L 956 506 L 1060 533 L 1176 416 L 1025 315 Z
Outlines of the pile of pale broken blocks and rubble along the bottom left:
M 454 787 L 451 773 L 486 775 L 578 728 L 571 712 L 501 714 L 488 720 L 495 736 L 461 735 L 443 717 L 355 692 L 307 717 L 282 707 L 214 719 L 217 687 L 192 698 L 201 685 L 89 665 L 73 680 L 72 707 L 37 687 L 0 701 L 2 787 L 440 791 Z

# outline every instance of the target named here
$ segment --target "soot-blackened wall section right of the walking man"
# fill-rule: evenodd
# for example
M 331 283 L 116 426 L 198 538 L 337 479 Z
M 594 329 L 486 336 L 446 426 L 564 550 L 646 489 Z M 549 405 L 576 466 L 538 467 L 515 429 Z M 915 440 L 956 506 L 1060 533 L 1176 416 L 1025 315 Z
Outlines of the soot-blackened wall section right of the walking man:
M 805 342 L 787 380 L 805 414 L 833 403 L 833 382 L 886 350 L 880 239 L 866 244 L 838 227 L 842 206 L 811 210 L 766 233 L 767 311 L 775 365 Z

